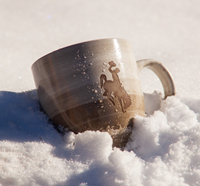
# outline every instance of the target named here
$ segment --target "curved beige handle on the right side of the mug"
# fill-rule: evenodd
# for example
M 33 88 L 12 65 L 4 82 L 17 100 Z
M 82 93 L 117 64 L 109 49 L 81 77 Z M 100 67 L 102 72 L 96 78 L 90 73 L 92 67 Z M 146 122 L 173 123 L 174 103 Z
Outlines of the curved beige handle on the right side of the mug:
M 137 67 L 138 74 L 142 68 L 147 67 L 159 77 L 164 89 L 164 99 L 166 99 L 168 96 L 175 95 L 175 85 L 172 76 L 162 63 L 153 59 L 142 59 L 137 61 Z

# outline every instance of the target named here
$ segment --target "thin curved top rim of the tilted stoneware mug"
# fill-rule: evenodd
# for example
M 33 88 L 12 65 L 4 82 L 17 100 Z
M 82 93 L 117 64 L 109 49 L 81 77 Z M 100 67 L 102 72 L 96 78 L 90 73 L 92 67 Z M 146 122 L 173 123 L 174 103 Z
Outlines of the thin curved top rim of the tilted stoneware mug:
M 83 45 L 83 44 L 90 43 L 90 42 L 106 41 L 106 40 L 124 40 L 124 41 L 127 42 L 127 40 L 124 39 L 124 38 L 102 38 L 102 39 L 92 39 L 92 40 L 88 40 L 88 41 L 83 41 L 83 42 L 71 44 L 71 45 L 68 45 L 68 46 L 65 46 L 65 47 L 61 47 L 61 48 L 59 48 L 57 50 L 53 50 L 52 52 L 49 52 L 49 53 L 43 55 L 42 57 L 38 58 L 35 62 L 33 62 L 33 64 L 31 65 L 31 68 L 33 68 L 34 64 L 36 64 L 37 62 L 39 62 L 42 58 L 50 56 L 53 53 L 58 52 L 60 50 L 63 50 L 63 49 L 66 49 L 66 48 L 70 48 L 70 47 L 74 47 L 74 46 L 78 46 L 78 45 Z

